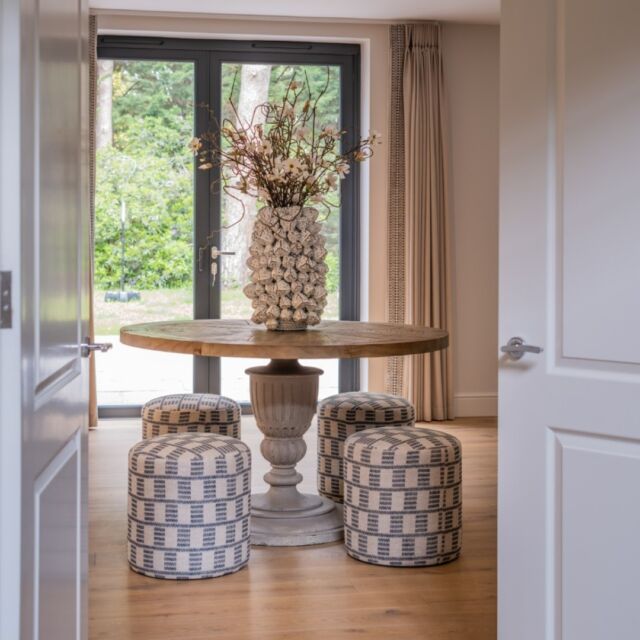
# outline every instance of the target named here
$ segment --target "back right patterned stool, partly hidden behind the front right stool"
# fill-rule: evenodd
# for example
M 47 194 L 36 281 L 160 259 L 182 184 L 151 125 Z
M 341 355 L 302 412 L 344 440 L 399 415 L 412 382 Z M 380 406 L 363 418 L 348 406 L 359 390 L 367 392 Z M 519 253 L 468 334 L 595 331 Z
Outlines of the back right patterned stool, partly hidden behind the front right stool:
M 354 391 L 325 398 L 318 405 L 318 492 L 342 502 L 342 452 L 352 433 L 372 427 L 412 427 L 413 405 L 385 393 Z

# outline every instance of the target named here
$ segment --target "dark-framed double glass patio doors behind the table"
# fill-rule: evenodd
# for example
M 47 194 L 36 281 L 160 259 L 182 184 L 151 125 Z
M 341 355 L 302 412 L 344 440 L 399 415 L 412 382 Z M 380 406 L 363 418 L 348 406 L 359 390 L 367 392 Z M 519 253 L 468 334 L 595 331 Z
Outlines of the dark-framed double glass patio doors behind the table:
M 246 215 L 232 224 L 242 207 L 211 187 L 209 172 L 196 171 L 187 143 L 229 115 L 230 97 L 249 112 L 278 99 L 295 77 L 314 90 L 326 85 L 322 123 L 346 129 L 343 143 L 351 145 L 359 134 L 359 47 L 100 36 L 98 58 L 94 308 L 99 339 L 115 345 L 97 361 L 100 413 L 139 415 L 151 397 L 192 390 L 248 403 L 244 370 L 254 362 L 132 349 L 119 344 L 118 329 L 250 318 L 242 287 L 255 203 L 245 202 Z M 101 135 L 110 142 L 101 144 Z M 324 319 L 359 318 L 358 180 L 355 167 L 324 222 Z M 358 388 L 357 362 L 317 364 L 325 371 L 321 396 Z

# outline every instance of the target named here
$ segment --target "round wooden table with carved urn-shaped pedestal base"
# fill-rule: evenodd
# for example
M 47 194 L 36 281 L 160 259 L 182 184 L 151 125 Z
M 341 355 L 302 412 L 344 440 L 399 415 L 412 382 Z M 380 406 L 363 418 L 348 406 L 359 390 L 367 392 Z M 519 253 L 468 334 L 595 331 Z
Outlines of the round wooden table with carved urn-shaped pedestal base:
M 196 356 L 269 358 L 247 369 L 251 405 L 264 434 L 262 455 L 271 463 L 266 493 L 251 498 L 251 542 L 296 546 L 340 540 L 340 505 L 297 489 L 303 436 L 311 425 L 323 373 L 299 358 L 376 358 L 428 353 L 447 347 L 440 329 L 373 322 L 325 321 L 307 331 L 267 331 L 248 320 L 149 322 L 123 327 L 123 344 Z

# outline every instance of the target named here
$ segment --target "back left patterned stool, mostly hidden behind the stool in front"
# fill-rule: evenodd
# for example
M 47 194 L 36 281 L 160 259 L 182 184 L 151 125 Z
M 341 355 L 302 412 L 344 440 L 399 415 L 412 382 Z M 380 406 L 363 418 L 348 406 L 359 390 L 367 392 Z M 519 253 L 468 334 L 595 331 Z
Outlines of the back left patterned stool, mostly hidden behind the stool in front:
M 160 396 L 142 407 L 142 438 L 167 433 L 218 433 L 240 437 L 240 405 L 210 393 Z

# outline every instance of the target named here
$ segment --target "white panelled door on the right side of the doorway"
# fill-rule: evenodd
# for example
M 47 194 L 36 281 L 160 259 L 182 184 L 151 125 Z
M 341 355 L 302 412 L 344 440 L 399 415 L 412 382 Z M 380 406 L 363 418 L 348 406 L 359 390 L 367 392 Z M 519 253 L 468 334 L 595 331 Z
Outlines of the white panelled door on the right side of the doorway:
M 640 637 L 640 2 L 503 0 L 499 637 Z

